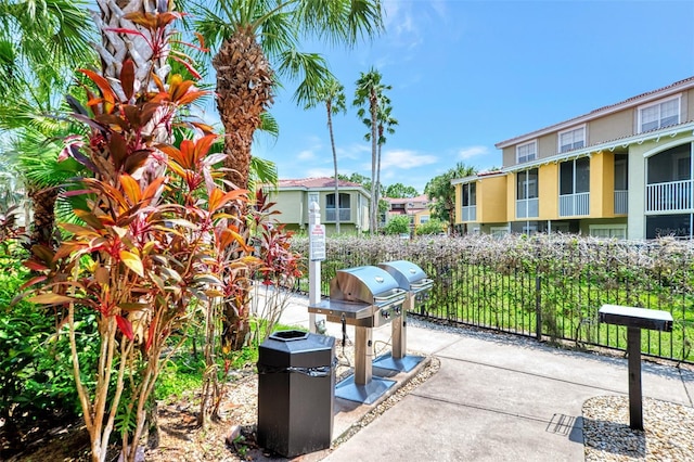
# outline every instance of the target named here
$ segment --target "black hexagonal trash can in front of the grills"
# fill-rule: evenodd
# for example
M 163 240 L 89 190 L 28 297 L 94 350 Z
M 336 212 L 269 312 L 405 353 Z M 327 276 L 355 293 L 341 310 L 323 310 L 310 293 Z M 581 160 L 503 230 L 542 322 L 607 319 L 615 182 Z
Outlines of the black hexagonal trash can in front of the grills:
M 258 347 L 258 445 L 287 458 L 330 448 L 335 338 L 278 331 Z

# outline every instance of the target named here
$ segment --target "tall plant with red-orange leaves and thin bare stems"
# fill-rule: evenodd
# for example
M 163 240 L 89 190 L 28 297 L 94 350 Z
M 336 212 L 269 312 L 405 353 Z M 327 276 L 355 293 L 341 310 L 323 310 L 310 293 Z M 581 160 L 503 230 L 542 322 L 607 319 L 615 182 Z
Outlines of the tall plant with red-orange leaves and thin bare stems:
M 177 17 L 164 13 L 130 18 L 156 29 Z M 153 47 L 160 47 L 156 40 L 169 35 L 152 37 Z M 121 68 L 117 82 L 80 70 L 92 84 L 87 104 L 70 103 L 73 116 L 87 125 L 89 134 L 66 140 L 61 158 L 73 157 L 93 174 L 77 180 L 69 192 L 83 198 L 74 210 L 81 222 L 62 223 L 69 238 L 55 252 L 35 247 L 26 262 L 36 274 L 25 284 L 29 300 L 60 308 L 63 323 L 69 325 L 93 460 L 105 459 L 121 406 L 136 415 L 134 431 L 121 434 L 124 455 L 134 458 L 167 338 L 188 321 L 192 300 L 205 304 L 223 296 L 220 254 L 249 253 L 239 233 L 240 217 L 227 211 L 244 208 L 246 191 L 221 188 L 215 169 L 220 155 L 209 153 L 216 134 L 208 126 L 189 124 L 197 138 L 169 144 L 179 111 L 205 92 L 180 75 L 164 82 L 154 74 L 156 90 L 147 90 L 136 82 L 132 62 Z M 167 168 L 153 177 L 146 175 L 156 171 L 147 170 L 152 164 Z M 99 315 L 97 371 L 81 371 L 77 360 L 73 320 L 78 309 Z M 131 398 L 120 403 L 125 387 Z

